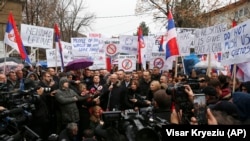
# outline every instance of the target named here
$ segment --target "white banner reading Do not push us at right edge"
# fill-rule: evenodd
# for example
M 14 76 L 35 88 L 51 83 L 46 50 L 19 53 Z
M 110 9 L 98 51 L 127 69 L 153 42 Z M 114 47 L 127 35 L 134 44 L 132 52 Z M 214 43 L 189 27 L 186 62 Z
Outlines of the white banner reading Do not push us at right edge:
M 221 34 L 223 65 L 249 62 L 250 20 L 247 20 Z

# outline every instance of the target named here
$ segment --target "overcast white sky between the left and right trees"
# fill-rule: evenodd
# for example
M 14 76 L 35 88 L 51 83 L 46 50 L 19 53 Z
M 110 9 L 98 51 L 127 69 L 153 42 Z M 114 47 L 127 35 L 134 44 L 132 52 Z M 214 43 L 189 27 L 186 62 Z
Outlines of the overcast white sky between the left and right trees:
M 101 33 L 105 37 L 118 35 L 132 35 L 136 33 L 137 27 L 141 22 L 145 22 L 149 26 L 151 33 L 165 30 L 161 25 L 153 22 L 152 16 L 145 14 L 141 16 L 135 15 L 135 7 L 137 0 L 86 0 L 90 12 L 96 14 L 95 23 L 91 25 L 92 33 Z M 120 17 L 121 16 L 121 17 Z

